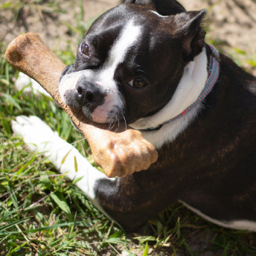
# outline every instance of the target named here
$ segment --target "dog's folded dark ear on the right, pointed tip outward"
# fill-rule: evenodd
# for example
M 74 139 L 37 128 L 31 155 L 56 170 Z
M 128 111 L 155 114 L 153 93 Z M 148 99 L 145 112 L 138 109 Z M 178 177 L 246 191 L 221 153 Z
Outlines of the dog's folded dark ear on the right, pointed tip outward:
M 205 31 L 201 27 L 206 10 L 196 10 L 180 13 L 174 16 L 175 34 L 182 39 L 184 60 L 193 60 L 193 57 L 202 52 L 205 46 Z

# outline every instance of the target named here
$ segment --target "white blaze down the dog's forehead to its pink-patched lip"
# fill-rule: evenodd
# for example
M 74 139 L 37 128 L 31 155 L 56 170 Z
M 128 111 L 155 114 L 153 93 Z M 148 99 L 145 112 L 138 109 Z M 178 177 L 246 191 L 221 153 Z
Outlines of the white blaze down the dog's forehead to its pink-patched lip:
M 138 36 L 140 35 L 141 26 L 134 25 L 131 20 L 122 31 L 121 36 L 112 46 L 109 57 L 106 60 L 106 64 L 103 65 L 103 68 L 98 73 L 99 80 L 96 82 L 100 86 L 103 86 L 103 88 L 109 89 L 108 95 L 111 94 L 111 97 L 106 95 L 106 97 L 108 97 L 108 100 L 106 100 L 107 105 L 104 103 L 95 109 L 92 113 L 93 121 L 98 122 L 100 120 L 100 122 L 105 122 L 109 117 L 109 112 L 113 109 L 115 110 L 116 107 L 118 109 L 123 109 L 124 103 L 122 102 L 118 92 L 118 86 L 114 80 L 114 74 L 118 64 L 125 60 L 127 51 L 135 44 Z M 109 101 L 110 98 L 111 100 Z

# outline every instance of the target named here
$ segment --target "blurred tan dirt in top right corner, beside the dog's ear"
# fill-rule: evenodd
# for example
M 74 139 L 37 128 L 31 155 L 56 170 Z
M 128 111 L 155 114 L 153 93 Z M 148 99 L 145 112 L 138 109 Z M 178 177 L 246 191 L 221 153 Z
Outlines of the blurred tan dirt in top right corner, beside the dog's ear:
M 256 51 L 255 0 L 180 0 L 187 10 L 207 9 L 211 39 L 240 48 L 248 54 Z

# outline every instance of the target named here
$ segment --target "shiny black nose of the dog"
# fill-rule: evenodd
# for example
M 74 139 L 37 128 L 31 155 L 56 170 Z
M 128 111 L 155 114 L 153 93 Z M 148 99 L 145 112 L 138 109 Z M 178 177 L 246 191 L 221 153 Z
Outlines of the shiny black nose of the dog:
M 78 81 L 76 89 L 75 97 L 80 106 L 99 106 L 105 97 L 97 84 L 85 80 Z

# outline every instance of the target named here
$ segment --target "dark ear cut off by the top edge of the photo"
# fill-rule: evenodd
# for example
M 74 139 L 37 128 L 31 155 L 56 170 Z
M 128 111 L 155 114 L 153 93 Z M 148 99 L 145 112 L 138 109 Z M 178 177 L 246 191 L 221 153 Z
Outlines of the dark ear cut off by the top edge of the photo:
M 176 0 L 123 0 L 122 3 L 147 6 L 163 16 L 175 15 L 186 11 L 182 4 L 179 4 Z

